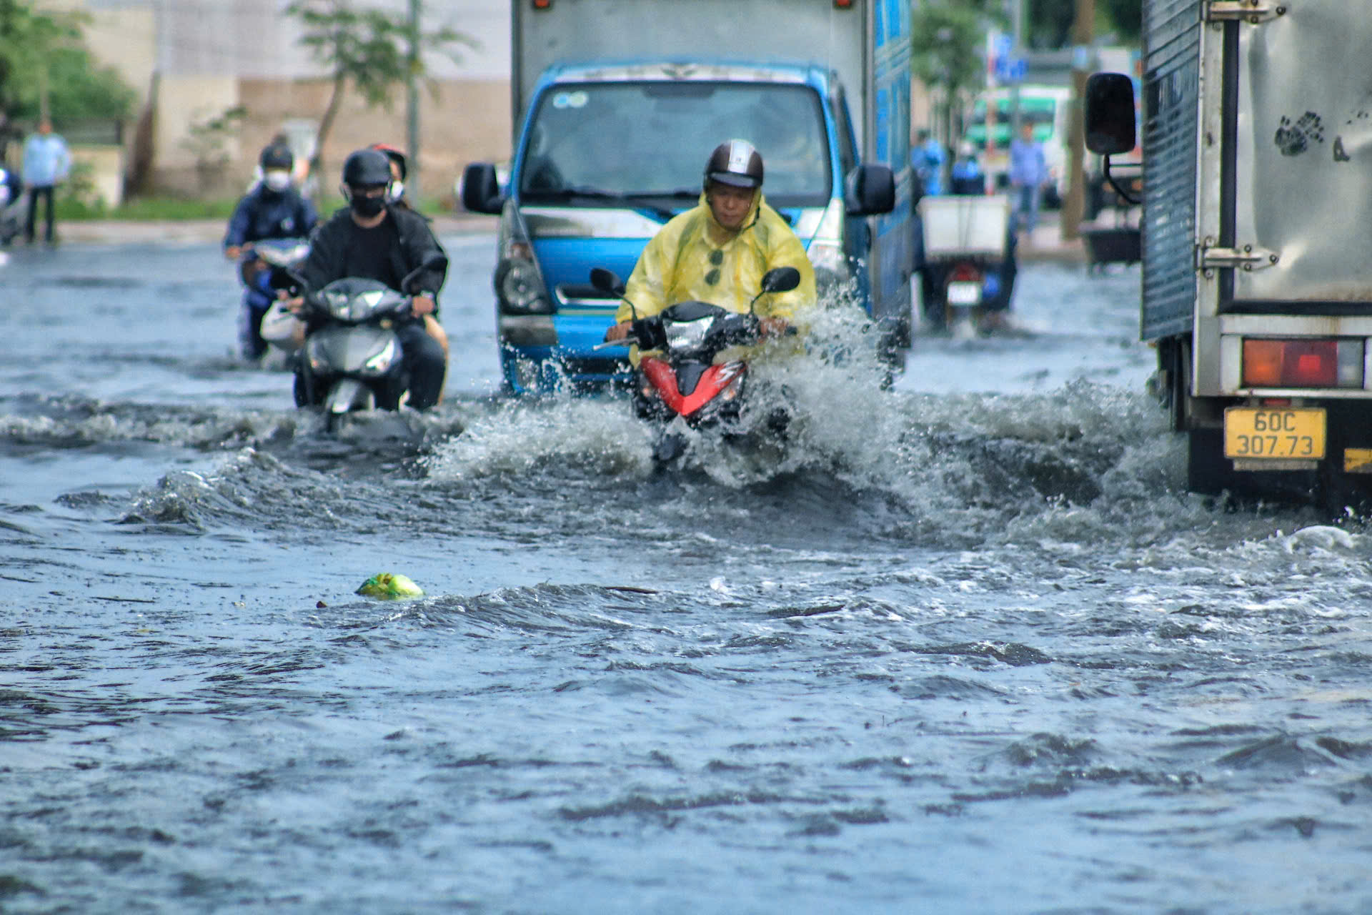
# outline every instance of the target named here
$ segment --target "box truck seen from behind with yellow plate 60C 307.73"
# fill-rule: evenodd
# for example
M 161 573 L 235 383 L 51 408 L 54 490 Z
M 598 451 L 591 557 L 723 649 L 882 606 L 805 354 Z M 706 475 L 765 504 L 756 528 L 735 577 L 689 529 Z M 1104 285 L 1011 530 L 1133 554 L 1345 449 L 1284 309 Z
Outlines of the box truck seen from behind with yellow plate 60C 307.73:
M 1339 510 L 1372 482 L 1372 100 L 1338 71 L 1372 45 L 1367 14 L 1144 3 L 1142 336 L 1195 491 Z M 1095 74 L 1085 104 L 1092 151 L 1133 145 L 1128 74 Z

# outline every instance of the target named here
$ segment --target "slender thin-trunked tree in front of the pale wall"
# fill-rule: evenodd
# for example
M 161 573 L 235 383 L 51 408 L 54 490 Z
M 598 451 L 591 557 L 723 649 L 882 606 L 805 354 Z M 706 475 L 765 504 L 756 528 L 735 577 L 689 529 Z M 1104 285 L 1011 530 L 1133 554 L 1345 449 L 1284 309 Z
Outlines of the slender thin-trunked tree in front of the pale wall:
M 460 60 L 458 45 L 476 47 L 471 37 L 447 26 L 431 32 L 421 29 L 416 36 L 406 15 L 358 10 L 348 0 L 295 0 L 285 12 L 305 27 L 300 44 L 329 71 L 333 82 L 314 137 L 310 167 L 316 174 L 322 169 L 324 141 L 333 129 L 348 86 L 368 107 L 390 111 L 395 88 L 410 80 L 425 82 L 436 95 L 438 84 L 428 78 L 425 54 L 456 62 Z M 413 55 L 412 41 L 418 44 Z

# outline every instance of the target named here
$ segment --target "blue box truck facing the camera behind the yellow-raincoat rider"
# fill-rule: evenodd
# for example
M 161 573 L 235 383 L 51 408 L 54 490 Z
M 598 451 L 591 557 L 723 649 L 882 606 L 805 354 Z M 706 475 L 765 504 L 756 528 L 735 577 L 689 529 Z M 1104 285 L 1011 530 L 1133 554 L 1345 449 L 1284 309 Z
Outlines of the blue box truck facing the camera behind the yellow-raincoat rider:
M 918 193 L 906 0 L 512 0 L 512 37 L 509 177 L 473 163 L 461 189 L 465 209 L 501 217 L 509 391 L 631 377 L 622 353 L 593 350 L 619 302 L 590 270 L 627 277 L 735 137 L 763 154 L 767 200 L 822 300 L 856 299 L 903 365 Z

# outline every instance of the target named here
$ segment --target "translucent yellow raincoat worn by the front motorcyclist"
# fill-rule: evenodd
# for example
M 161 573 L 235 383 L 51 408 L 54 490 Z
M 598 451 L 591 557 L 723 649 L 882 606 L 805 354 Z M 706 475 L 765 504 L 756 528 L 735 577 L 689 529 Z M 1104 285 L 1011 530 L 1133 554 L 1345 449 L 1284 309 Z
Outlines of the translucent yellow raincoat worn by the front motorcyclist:
M 815 303 L 815 269 L 800 239 L 781 214 L 767 206 L 761 191 L 753 196 L 744 228 L 737 233 L 715 219 L 701 193 L 698 206 L 674 217 L 643 248 L 624 289 L 637 314 L 627 303 L 620 303 L 615 320 L 646 318 L 670 305 L 690 300 L 746 311 L 761 288 L 763 274 L 781 266 L 800 270 L 800 285 L 790 292 L 764 295 L 757 299 L 756 311 L 759 317 L 794 321 Z M 711 277 L 715 283 L 708 281 Z

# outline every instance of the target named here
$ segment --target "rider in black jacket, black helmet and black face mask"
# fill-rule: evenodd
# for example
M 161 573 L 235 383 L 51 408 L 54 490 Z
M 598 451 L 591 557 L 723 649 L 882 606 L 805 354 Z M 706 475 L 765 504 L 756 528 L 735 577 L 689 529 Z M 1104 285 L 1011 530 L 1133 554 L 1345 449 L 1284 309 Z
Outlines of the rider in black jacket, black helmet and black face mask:
M 310 237 L 310 257 L 300 268 L 310 289 L 343 277 L 364 277 L 401 289 L 401 281 L 425 257 L 443 254 L 424 217 L 387 202 L 390 184 L 391 163 L 384 152 L 358 150 L 344 161 L 342 191 L 348 206 Z M 416 317 L 438 316 L 438 291 L 446 273 L 443 268 L 420 274 L 421 292 L 410 309 Z M 443 347 L 424 331 L 423 321 L 397 328 L 397 335 L 410 372 L 410 406 L 420 410 L 434 406 L 447 370 Z

